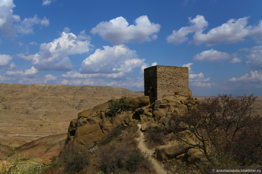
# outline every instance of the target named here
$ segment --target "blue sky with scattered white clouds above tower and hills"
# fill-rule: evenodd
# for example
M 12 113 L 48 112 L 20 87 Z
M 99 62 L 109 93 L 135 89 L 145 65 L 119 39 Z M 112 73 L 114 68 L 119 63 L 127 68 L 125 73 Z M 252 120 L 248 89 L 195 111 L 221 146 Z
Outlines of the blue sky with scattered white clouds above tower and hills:
M 196 96 L 262 95 L 262 2 L 0 0 L 0 83 L 144 90 L 189 67 Z

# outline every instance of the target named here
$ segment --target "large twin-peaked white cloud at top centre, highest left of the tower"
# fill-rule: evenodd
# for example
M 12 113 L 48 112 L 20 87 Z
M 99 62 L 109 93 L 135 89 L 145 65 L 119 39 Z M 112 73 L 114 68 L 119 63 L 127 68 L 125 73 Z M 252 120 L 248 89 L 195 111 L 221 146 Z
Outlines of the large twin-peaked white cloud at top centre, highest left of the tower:
M 100 22 L 91 29 L 93 35 L 100 35 L 103 40 L 110 41 L 114 45 L 128 42 L 146 42 L 157 38 L 156 33 L 160 30 L 160 25 L 150 22 L 148 16 L 140 16 L 134 21 L 134 25 L 129 25 L 122 16 L 108 21 Z

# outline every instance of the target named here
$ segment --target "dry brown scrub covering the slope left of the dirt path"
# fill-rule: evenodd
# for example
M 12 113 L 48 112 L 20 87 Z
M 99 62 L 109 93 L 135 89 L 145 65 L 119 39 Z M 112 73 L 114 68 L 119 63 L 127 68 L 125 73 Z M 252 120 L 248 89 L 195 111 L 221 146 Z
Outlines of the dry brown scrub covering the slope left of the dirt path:
M 97 161 L 101 171 L 136 173 L 154 173 L 154 168 L 144 152 L 137 149 L 134 133 L 138 127 L 126 127 L 121 135 L 121 140 L 115 138 L 110 143 L 100 146 L 97 152 Z M 144 171 L 144 172 L 143 172 Z M 152 172 L 151 172 L 152 171 Z

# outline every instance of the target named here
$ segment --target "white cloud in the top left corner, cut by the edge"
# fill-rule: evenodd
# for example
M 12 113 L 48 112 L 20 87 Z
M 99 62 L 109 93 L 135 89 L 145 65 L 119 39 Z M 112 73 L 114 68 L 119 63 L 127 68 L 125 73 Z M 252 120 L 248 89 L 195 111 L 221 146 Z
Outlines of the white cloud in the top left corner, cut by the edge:
M 49 26 L 49 19 L 46 17 L 40 19 L 37 15 L 34 17 L 24 18 L 21 21 L 20 16 L 13 14 L 15 4 L 13 0 L 5 0 L 0 2 L 0 30 L 6 35 L 15 36 L 17 33 L 31 34 L 33 33 L 33 26 Z

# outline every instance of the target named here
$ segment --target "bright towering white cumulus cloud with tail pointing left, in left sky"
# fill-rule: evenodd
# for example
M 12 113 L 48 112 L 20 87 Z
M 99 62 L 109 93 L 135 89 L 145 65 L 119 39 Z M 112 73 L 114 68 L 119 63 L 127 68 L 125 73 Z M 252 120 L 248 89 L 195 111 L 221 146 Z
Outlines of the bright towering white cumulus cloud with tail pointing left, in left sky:
M 40 44 L 40 51 L 35 55 L 18 54 L 17 56 L 31 61 L 39 70 L 73 70 L 68 55 L 89 52 L 90 41 L 77 40 L 73 33 L 62 32 L 61 37 L 48 44 Z

